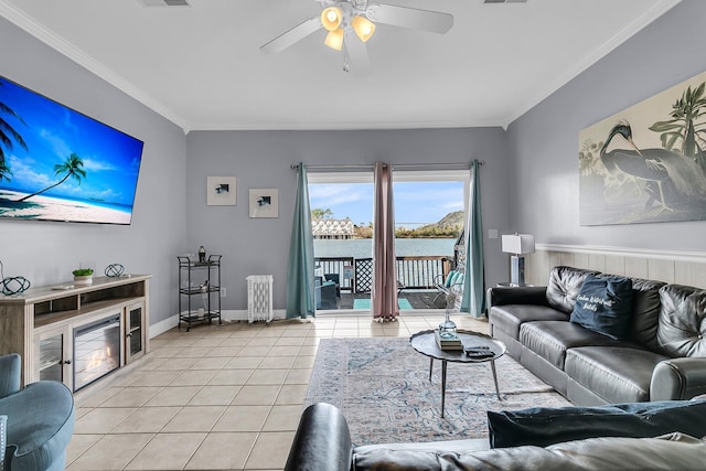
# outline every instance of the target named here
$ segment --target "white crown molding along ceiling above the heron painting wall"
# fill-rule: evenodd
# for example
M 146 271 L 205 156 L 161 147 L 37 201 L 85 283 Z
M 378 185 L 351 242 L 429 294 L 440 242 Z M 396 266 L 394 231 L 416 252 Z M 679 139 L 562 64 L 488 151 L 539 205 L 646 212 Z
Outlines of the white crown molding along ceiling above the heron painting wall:
M 522 106 L 520 106 L 513 114 L 507 116 L 505 122 L 502 125 L 503 128 L 507 129 L 507 127 L 515 120 L 522 117 L 525 113 L 530 111 L 532 108 L 544 101 L 548 98 L 553 93 L 561 88 L 564 85 L 568 84 L 571 79 L 576 78 L 582 72 L 588 69 L 591 65 L 596 64 L 598 61 L 607 56 L 610 52 L 616 50 L 619 45 L 628 41 L 634 34 L 637 34 L 640 30 L 648 26 L 657 18 L 662 17 L 664 13 L 676 7 L 681 3 L 682 0 L 662 0 L 652 7 L 649 11 L 638 18 L 635 21 L 629 23 L 623 28 L 618 34 L 612 36 L 606 43 L 603 43 L 600 47 L 593 50 L 590 54 L 581 58 L 579 62 L 575 64 L 566 74 L 559 76 L 556 81 L 548 83 L 543 90 L 531 97 L 527 101 L 525 101 Z

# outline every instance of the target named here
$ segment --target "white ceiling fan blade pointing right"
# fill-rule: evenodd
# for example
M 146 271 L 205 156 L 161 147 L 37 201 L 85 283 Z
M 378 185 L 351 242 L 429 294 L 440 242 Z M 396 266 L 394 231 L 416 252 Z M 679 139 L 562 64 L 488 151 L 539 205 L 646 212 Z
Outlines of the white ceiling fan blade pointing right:
M 394 26 L 410 28 L 443 34 L 453 25 L 453 15 L 440 11 L 392 4 L 371 3 L 365 11 L 368 20 Z

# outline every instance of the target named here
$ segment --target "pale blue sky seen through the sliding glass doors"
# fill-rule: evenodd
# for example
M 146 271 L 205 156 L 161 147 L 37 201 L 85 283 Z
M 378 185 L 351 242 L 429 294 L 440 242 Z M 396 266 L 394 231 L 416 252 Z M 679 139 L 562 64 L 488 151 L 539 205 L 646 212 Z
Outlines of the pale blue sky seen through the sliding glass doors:
M 463 210 L 463 182 L 395 182 L 395 223 L 417 227 Z M 336 220 L 373 221 L 372 183 L 309 184 L 312 208 L 329 208 Z

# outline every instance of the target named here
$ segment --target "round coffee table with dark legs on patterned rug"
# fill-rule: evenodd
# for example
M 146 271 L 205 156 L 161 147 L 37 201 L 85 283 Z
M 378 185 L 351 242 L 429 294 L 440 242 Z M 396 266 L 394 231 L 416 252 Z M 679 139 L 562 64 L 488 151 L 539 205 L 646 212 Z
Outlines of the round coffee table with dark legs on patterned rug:
M 441 350 L 437 344 L 432 330 L 418 332 L 409 338 L 409 344 L 417 352 L 429 357 L 429 381 L 431 381 L 431 373 L 434 371 L 434 361 L 441 361 L 441 417 L 443 417 L 443 406 L 446 404 L 446 366 L 448 362 L 453 363 L 486 363 L 490 362 L 490 368 L 493 372 L 493 382 L 495 383 L 495 394 L 500 397 L 500 389 L 498 388 L 498 375 L 495 373 L 495 360 L 505 354 L 505 344 L 499 340 L 495 340 L 489 335 L 471 332 L 471 331 L 458 331 L 457 335 L 461 339 L 464 346 L 486 346 L 492 356 L 482 358 L 473 358 L 468 356 L 462 350 Z M 502 400 L 502 399 L 501 399 Z

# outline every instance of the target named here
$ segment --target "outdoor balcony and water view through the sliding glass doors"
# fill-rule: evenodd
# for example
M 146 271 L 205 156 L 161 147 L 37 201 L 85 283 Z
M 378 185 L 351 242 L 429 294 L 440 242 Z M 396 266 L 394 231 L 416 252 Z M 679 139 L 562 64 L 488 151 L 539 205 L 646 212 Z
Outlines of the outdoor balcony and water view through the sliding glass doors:
M 310 174 L 318 311 L 370 311 L 373 283 L 372 182 L 319 183 Z M 395 256 L 399 308 L 442 309 L 435 279 L 453 267 L 462 229 L 464 182 L 397 181 L 395 174 Z M 372 175 L 368 176 L 372 180 Z M 428 175 L 426 176 L 428 179 Z

